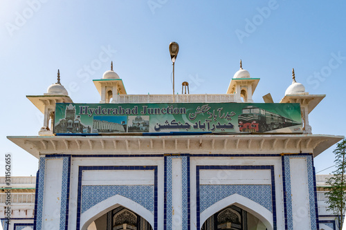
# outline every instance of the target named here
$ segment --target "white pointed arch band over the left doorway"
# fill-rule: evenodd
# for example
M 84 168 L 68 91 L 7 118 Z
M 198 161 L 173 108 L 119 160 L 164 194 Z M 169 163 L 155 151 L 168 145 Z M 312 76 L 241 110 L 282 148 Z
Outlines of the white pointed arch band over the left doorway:
M 150 225 L 154 226 L 154 214 L 152 212 L 145 209 L 145 207 L 138 204 L 137 202 L 129 200 L 129 198 L 125 198 L 122 195 L 114 195 L 111 198 L 103 200 L 102 202 L 94 205 L 93 207 L 82 213 L 82 215 L 80 215 L 80 226 L 82 226 L 81 229 L 86 230 L 91 222 L 100 218 L 100 216 L 104 215 L 105 213 L 120 206 L 134 211 L 134 213 L 137 213 L 145 220 L 147 220 Z

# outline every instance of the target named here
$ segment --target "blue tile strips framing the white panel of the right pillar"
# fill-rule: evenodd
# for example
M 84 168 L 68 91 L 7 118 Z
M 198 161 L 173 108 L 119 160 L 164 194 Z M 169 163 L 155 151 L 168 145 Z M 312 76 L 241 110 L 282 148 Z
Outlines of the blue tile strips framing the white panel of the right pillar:
M 292 211 L 292 191 L 291 191 L 291 170 L 290 170 L 290 158 L 300 157 L 307 160 L 307 179 L 309 188 L 309 216 L 311 222 L 311 230 L 317 230 L 316 228 L 316 204 L 315 204 L 315 188 L 313 186 L 313 162 L 312 155 L 284 155 L 284 189 L 285 189 L 285 210 L 286 210 L 286 228 L 293 229 L 293 211 Z

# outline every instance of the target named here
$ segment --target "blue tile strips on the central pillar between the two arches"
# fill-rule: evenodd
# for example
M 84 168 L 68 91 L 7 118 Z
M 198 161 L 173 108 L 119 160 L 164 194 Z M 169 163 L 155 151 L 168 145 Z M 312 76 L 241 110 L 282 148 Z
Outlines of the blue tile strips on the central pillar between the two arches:
M 181 158 L 182 226 L 190 230 L 190 157 L 186 155 L 165 156 L 165 230 L 172 229 L 172 159 Z M 180 192 L 180 191 L 176 191 Z

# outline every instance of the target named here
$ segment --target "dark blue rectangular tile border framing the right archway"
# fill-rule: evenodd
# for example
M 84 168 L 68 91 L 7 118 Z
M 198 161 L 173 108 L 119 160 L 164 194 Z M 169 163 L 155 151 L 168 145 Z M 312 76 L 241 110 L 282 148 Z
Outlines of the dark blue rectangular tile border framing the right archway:
M 201 229 L 201 217 L 200 217 L 200 206 L 199 206 L 199 171 L 206 169 L 270 169 L 271 170 L 271 198 L 273 207 L 273 229 L 277 229 L 276 223 L 276 200 L 275 200 L 275 174 L 273 165 L 197 165 L 196 166 L 196 202 L 197 202 L 197 229 Z

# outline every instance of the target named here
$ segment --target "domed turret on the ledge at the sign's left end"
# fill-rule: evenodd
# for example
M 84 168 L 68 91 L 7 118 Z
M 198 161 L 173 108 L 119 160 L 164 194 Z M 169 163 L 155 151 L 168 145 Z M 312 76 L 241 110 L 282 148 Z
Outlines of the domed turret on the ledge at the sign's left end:
M 51 84 L 47 88 L 47 93 L 26 97 L 44 114 L 44 125 L 39 135 L 53 135 L 56 103 L 73 103 L 66 88 L 60 82 L 60 70 L 57 70 L 57 83 Z

